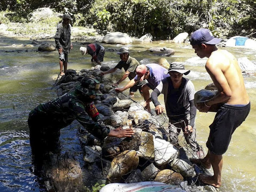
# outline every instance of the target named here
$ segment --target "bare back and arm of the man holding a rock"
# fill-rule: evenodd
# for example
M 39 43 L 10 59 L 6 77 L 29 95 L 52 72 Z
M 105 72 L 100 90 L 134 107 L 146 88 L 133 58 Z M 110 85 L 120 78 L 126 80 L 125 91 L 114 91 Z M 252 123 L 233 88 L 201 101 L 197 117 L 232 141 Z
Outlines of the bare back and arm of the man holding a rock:
M 236 58 L 226 50 L 212 52 L 205 66 L 219 92 L 230 95 L 227 104 L 248 104 L 242 72 Z

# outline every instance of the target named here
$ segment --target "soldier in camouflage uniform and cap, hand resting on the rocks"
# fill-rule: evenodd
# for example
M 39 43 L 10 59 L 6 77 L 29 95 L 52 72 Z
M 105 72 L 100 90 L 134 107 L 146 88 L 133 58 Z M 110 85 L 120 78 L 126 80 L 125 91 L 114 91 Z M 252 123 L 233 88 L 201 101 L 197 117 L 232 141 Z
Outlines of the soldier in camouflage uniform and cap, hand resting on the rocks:
M 32 154 L 43 153 L 56 149 L 60 137 L 60 129 L 77 120 L 88 132 L 100 140 L 107 136 L 131 137 L 132 129 L 110 130 L 100 124 L 98 110 L 94 102 L 99 91 L 100 83 L 93 78 L 84 78 L 81 85 L 70 92 L 46 104 L 40 104 L 32 110 L 28 117 L 30 129 L 30 146 Z

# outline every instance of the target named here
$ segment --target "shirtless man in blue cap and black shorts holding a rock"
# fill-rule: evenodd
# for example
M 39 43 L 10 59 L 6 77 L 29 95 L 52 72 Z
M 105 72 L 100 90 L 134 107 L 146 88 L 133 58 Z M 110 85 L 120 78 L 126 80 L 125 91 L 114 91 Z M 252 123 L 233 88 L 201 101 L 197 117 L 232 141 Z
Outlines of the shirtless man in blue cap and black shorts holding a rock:
M 238 62 L 228 51 L 218 50 L 216 44 L 220 41 L 208 29 L 196 30 L 190 38 L 197 56 L 208 58 L 205 68 L 218 88 L 216 96 L 197 104 L 198 110 L 207 113 L 213 104 L 222 104 L 209 126 L 210 134 L 206 142 L 208 153 L 203 159 L 195 160 L 208 169 L 212 166 L 214 175 L 201 175 L 200 179 L 216 188 L 221 186 L 222 154 L 228 149 L 233 132 L 250 112 L 250 99 Z

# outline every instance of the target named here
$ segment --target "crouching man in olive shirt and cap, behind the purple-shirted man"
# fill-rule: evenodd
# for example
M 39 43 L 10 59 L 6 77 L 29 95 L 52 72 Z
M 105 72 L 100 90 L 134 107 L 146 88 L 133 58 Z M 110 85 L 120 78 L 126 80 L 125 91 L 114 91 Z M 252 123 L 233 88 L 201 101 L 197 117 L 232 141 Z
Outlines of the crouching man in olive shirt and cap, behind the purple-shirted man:
M 119 52 L 117 52 L 116 54 L 120 55 L 121 61 L 114 68 L 101 73 L 102 75 L 106 75 L 106 74 L 115 72 L 117 69 L 124 68 L 125 74 L 122 76 L 122 78 L 120 78 L 120 80 L 114 83 L 113 86 L 118 86 L 127 77 L 130 80 L 132 80 L 136 76 L 136 73 L 135 73 L 136 68 L 140 65 L 140 63 L 135 58 L 130 57 L 129 48 L 126 46 L 121 47 Z M 145 83 L 146 83 L 145 81 L 142 81 L 142 82 L 139 82 L 138 84 L 134 84 L 134 86 L 130 88 L 130 97 L 133 97 L 134 92 L 136 92 L 137 90 L 139 90 L 140 94 L 142 94 L 141 87 Z

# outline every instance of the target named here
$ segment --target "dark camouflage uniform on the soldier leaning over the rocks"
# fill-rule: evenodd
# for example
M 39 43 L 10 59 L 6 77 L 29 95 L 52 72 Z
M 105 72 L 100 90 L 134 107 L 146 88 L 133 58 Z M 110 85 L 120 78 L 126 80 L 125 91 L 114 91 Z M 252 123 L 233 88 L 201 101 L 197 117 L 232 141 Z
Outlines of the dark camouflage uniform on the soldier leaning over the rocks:
M 78 90 L 38 105 L 28 117 L 32 152 L 38 148 L 42 150 L 54 148 L 60 136 L 60 129 L 70 125 L 74 120 L 77 120 L 95 137 L 104 140 L 110 130 L 98 123 L 100 118 L 99 115 L 95 116 L 97 112 L 91 100 L 81 95 Z

